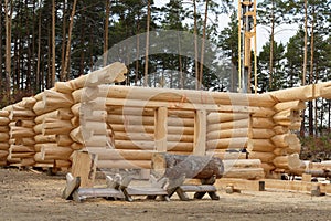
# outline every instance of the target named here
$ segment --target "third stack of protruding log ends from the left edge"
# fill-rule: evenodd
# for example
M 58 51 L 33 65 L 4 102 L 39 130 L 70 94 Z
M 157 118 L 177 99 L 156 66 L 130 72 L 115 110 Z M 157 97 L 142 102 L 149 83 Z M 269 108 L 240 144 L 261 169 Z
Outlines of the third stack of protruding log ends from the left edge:
M 36 166 L 43 167 L 68 167 L 68 158 L 73 152 L 72 139 L 68 137 L 73 129 L 71 124 L 71 94 L 62 93 L 56 88 L 46 90 L 35 96 L 33 110 L 35 118 L 35 150 Z

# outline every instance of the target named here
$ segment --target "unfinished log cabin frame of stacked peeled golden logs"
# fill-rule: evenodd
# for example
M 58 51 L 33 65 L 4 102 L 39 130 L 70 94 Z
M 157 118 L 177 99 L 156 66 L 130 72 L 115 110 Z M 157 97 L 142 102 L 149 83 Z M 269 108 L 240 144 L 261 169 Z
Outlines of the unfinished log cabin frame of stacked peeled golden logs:
M 260 95 L 105 85 L 126 71 L 115 63 L 0 110 L 0 165 L 68 168 L 87 148 L 104 168 L 151 168 L 152 154 L 172 152 L 243 160 L 250 177 L 298 171 L 300 110 L 331 96 L 331 83 Z

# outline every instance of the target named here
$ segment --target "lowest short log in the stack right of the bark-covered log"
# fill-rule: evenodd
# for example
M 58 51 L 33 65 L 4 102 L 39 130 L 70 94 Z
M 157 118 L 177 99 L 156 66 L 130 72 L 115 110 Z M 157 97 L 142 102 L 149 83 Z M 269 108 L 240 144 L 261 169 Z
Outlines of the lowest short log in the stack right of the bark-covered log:
M 224 178 L 258 180 L 265 177 L 263 168 L 231 168 L 224 171 Z

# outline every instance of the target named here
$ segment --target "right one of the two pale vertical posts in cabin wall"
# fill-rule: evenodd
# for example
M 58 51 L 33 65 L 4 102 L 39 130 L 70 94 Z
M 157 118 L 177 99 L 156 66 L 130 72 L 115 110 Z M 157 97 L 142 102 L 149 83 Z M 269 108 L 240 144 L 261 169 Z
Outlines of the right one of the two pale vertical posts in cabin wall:
M 193 155 L 203 156 L 206 150 L 206 110 L 197 109 L 194 117 Z

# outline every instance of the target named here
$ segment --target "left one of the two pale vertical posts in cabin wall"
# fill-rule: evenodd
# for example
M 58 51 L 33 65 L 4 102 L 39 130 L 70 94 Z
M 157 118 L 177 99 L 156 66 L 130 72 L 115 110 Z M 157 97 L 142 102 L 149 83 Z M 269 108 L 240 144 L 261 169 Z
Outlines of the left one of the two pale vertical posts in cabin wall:
M 167 152 L 168 135 L 168 108 L 159 107 L 156 110 L 156 149 L 159 152 Z

